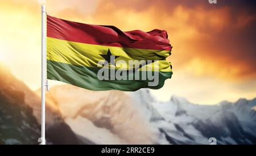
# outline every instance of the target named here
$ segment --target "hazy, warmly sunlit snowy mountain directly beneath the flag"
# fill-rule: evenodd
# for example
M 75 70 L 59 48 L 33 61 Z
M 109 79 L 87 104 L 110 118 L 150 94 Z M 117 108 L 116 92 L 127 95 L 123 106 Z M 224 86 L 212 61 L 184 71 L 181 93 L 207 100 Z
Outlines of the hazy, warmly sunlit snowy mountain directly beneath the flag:
M 53 86 L 46 98 L 60 108 L 73 132 L 96 144 L 153 144 L 155 138 L 137 104 L 122 91 Z

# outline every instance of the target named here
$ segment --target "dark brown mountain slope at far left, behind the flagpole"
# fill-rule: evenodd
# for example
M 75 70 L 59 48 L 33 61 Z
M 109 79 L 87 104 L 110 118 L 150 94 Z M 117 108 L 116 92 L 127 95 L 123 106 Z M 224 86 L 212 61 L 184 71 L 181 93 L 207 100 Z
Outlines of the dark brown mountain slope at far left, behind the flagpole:
M 62 119 L 59 109 L 46 103 L 49 144 L 84 144 Z M 0 144 L 39 144 L 40 98 L 0 64 Z

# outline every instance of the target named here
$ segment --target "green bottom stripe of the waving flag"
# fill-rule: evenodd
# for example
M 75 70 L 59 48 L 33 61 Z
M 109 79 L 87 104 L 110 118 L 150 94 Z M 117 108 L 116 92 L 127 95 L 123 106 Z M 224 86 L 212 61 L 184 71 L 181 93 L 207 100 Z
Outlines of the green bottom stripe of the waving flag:
M 77 66 L 61 62 L 47 60 L 47 78 L 69 83 L 74 86 L 86 88 L 88 90 L 121 90 L 135 91 L 139 88 L 158 89 L 163 87 L 164 81 L 171 78 L 172 72 L 158 72 L 158 86 L 148 86 L 149 80 L 103 80 L 100 81 L 97 73 L 100 68 Z M 138 71 L 139 74 L 148 71 Z M 134 74 L 133 74 L 134 75 Z M 128 76 L 128 75 L 127 75 Z

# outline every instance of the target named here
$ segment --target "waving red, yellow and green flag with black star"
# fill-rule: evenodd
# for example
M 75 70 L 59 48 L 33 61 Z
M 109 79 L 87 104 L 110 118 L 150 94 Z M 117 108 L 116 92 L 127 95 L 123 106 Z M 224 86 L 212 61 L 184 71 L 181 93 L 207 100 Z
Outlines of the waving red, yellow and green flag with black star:
M 172 75 L 167 37 L 47 15 L 47 78 L 89 90 L 158 89 Z

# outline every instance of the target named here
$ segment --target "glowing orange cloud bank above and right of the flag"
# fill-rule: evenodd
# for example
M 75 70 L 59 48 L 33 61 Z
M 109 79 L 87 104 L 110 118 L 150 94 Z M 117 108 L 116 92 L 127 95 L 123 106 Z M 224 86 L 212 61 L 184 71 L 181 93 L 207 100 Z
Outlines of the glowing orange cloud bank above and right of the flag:
M 238 10 L 241 14 L 234 15 L 229 6 L 209 8 L 198 3 L 189 7 L 185 2 L 168 10 L 164 2 L 171 4 L 101 1 L 92 22 L 112 24 L 124 31 L 166 29 L 174 46 L 170 58 L 174 69 L 194 69 L 188 72 L 227 80 L 255 78 L 254 30 L 253 34 L 248 31 L 252 24 L 255 26 L 254 14 Z

